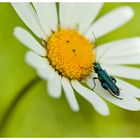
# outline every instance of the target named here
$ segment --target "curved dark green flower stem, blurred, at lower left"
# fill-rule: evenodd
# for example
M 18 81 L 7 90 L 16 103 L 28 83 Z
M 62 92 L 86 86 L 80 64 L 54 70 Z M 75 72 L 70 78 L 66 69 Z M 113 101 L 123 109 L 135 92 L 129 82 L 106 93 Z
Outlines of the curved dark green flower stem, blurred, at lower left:
M 35 85 L 37 82 L 39 82 L 41 79 L 36 76 L 33 79 L 31 79 L 18 93 L 17 96 L 14 98 L 14 100 L 11 102 L 10 106 L 6 110 L 1 122 L 0 122 L 0 134 L 4 130 L 4 127 L 10 118 L 12 112 L 14 111 L 17 104 L 20 102 L 20 100 L 28 93 L 28 91 Z

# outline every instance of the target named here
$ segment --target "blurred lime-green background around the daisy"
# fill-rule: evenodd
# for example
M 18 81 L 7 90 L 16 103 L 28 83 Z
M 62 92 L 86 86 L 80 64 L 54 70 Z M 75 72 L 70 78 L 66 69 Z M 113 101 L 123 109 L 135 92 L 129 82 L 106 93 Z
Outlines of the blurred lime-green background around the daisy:
M 131 6 L 135 17 L 125 26 L 98 39 L 102 44 L 140 35 L 140 3 L 106 3 L 99 16 L 123 5 Z M 98 17 L 99 17 L 98 16 Z M 139 137 L 140 112 L 109 104 L 110 116 L 97 114 L 76 94 L 81 110 L 72 112 L 64 94 L 52 99 L 43 80 L 38 80 L 12 108 L 21 89 L 34 77 L 35 70 L 24 61 L 27 48 L 13 36 L 15 26 L 27 28 L 10 3 L 0 3 L 0 136 L 1 137 Z M 140 81 L 130 81 L 140 87 Z M 7 110 L 10 112 L 5 116 Z

